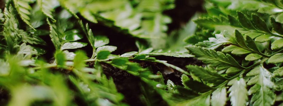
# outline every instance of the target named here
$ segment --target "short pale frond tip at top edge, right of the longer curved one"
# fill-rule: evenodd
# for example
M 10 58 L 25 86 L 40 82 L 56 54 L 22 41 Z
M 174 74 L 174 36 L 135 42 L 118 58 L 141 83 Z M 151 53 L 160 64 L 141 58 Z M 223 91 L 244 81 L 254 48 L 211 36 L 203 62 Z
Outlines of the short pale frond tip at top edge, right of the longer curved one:
M 56 20 L 53 18 L 52 12 L 54 11 L 54 8 L 59 5 L 59 2 L 56 0 L 37 0 L 40 8 L 44 15 L 46 15 L 48 18 L 52 20 L 52 22 L 56 22 Z

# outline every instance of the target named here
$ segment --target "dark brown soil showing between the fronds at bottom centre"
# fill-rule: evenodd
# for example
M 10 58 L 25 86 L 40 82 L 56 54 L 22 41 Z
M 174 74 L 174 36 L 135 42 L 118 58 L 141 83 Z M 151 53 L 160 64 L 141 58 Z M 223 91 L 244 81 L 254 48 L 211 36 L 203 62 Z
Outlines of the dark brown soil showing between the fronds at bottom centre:
M 175 58 L 167 56 L 158 56 L 157 58 L 167 60 L 168 63 L 176 65 L 184 70 L 186 70 L 186 65 L 203 65 L 200 61 L 197 61 L 195 58 Z M 169 61 L 170 60 L 170 61 Z M 157 71 L 160 71 L 163 75 L 164 83 L 167 80 L 173 81 L 177 85 L 182 86 L 181 75 L 182 73 L 174 70 L 170 67 L 167 67 L 161 63 L 154 63 L 148 61 L 135 61 L 139 63 L 143 68 L 150 67 L 153 70 L 153 73 L 156 74 Z M 107 77 L 112 77 L 118 92 L 121 92 L 124 95 L 124 102 L 131 106 L 144 106 L 145 103 L 141 100 L 142 91 L 141 91 L 141 80 L 140 78 L 130 75 L 127 72 L 115 68 L 109 64 L 101 63 L 101 67 L 104 71 L 104 74 Z M 160 98 L 160 104 L 164 104 L 161 100 L 161 97 L 157 95 L 156 98 Z

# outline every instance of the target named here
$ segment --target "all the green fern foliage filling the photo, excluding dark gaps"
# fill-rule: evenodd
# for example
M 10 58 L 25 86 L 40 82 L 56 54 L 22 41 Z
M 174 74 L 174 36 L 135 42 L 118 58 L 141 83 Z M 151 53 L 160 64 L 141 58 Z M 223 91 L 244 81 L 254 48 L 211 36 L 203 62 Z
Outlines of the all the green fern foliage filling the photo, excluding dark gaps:
M 208 0 L 195 24 L 168 34 L 171 18 L 163 12 L 174 7 L 174 0 L 7 0 L 0 9 L 0 104 L 128 105 L 104 74 L 107 64 L 140 79 L 143 105 L 283 105 L 281 0 Z M 138 51 L 113 54 L 117 47 L 90 24 L 130 35 Z M 160 55 L 204 65 L 184 70 Z M 181 72 L 182 84 L 143 62 Z

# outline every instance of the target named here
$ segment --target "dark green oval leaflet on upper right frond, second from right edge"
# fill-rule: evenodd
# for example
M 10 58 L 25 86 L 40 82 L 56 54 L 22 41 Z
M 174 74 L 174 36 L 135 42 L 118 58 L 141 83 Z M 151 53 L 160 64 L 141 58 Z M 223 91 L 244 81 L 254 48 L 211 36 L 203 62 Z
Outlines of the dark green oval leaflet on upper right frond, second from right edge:
M 258 30 L 260 30 L 260 31 L 265 31 L 265 32 L 270 32 L 269 31 L 269 29 L 268 29 L 268 27 L 267 27 L 267 25 L 265 24 L 265 22 L 261 19 L 261 18 L 259 18 L 257 15 L 255 15 L 255 14 L 252 14 L 251 15 L 251 17 L 252 17 L 252 21 L 253 21 L 253 23 L 254 23 L 254 26 L 258 29 Z

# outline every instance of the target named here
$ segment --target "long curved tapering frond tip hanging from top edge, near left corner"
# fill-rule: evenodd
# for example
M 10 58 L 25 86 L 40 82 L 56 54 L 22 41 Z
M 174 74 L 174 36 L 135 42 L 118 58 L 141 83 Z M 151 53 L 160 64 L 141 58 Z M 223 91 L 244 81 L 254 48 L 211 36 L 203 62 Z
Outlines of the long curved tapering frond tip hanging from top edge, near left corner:
M 32 10 L 32 8 L 29 5 L 30 0 L 13 0 L 13 1 L 14 1 L 15 8 L 16 8 L 17 12 L 19 13 L 21 19 L 27 25 L 29 25 L 32 29 L 34 29 L 31 25 L 31 23 L 29 22 L 30 11 Z

